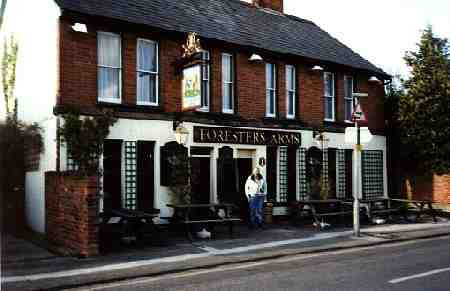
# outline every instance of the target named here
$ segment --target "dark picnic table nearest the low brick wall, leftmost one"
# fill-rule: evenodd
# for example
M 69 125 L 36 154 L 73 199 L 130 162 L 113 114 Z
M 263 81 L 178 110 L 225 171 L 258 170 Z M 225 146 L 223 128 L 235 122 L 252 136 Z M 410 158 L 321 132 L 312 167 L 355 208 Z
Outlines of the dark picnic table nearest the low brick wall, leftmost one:
M 122 238 L 142 239 L 145 235 L 158 233 L 153 219 L 159 216 L 159 209 L 146 211 L 131 209 L 108 209 L 101 213 L 100 233 L 105 240 Z

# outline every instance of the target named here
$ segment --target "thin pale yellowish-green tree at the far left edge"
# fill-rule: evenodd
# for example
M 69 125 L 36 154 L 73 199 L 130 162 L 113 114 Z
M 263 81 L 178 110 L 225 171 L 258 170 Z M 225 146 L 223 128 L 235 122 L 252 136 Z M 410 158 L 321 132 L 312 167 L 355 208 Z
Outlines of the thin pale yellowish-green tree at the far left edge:
M 6 39 L 3 43 L 2 57 L 2 84 L 3 94 L 5 98 L 5 109 L 8 118 L 17 121 L 17 100 L 14 98 L 14 87 L 16 83 L 16 65 L 19 45 L 14 36 L 8 42 Z

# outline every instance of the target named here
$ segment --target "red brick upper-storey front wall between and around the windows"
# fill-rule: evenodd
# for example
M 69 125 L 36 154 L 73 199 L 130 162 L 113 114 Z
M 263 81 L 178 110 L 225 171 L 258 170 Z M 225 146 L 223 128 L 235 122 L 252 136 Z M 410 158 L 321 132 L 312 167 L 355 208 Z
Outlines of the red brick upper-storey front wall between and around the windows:
M 92 22 L 92 21 L 91 21 Z M 157 32 L 141 27 L 114 25 L 112 22 L 88 23 L 89 33 L 72 31 L 72 21 L 62 18 L 60 25 L 60 86 L 58 105 L 80 105 L 95 108 L 97 104 L 97 40 L 96 31 L 104 30 L 122 35 L 122 103 L 136 104 L 136 39 L 154 39 L 159 43 L 159 96 L 161 109 L 165 112 L 181 110 L 181 74 L 175 71 L 174 63 L 181 58 L 181 45 L 185 36 Z M 125 32 L 123 32 L 123 31 Z M 265 117 L 265 64 L 249 62 L 252 52 L 231 44 L 223 44 L 201 39 L 203 47 L 211 54 L 211 107 L 210 111 L 222 111 L 221 54 L 232 53 L 235 57 L 235 98 L 237 112 L 240 117 L 261 120 Z M 292 64 L 297 69 L 297 117 L 311 126 L 323 123 L 323 72 L 311 70 L 311 64 L 301 59 L 286 58 L 260 53 L 264 60 L 277 65 L 277 97 L 278 117 L 286 117 L 285 65 Z M 366 113 L 370 116 L 369 126 L 375 129 L 384 128 L 382 97 L 383 86 L 369 84 L 369 76 L 349 71 L 348 68 L 334 68 L 336 78 L 336 121 L 344 120 L 344 74 L 362 76 L 360 92 L 368 92 Z

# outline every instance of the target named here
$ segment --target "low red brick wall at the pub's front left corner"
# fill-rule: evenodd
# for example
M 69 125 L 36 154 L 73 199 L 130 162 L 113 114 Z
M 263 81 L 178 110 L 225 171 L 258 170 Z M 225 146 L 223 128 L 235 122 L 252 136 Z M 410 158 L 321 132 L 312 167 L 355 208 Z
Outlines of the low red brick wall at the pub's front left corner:
M 54 251 L 98 254 L 97 186 L 96 177 L 45 173 L 46 234 Z

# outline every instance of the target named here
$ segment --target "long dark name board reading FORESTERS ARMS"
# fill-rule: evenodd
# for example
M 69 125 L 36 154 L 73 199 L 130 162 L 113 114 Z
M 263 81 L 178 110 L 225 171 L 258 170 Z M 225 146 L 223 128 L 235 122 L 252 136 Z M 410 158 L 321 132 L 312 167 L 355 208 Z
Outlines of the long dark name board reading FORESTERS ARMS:
M 194 126 L 194 142 L 301 146 L 302 135 L 292 131 L 255 130 L 234 127 Z

